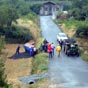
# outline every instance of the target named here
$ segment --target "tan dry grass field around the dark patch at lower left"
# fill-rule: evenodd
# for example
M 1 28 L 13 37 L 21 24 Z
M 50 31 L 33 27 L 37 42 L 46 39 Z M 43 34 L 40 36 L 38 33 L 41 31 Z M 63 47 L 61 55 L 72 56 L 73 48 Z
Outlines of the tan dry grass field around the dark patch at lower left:
M 5 74 L 7 75 L 8 83 L 13 85 L 13 88 L 28 88 L 26 85 L 22 84 L 18 78 L 27 76 L 31 74 L 32 70 L 32 58 L 19 58 L 10 59 L 14 55 L 16 47 L 18 44 L 7 44 L 3 51 L 7 53 L 5 57 Z M 20 53 L 24 52 L 23 45 L 21 45 Z

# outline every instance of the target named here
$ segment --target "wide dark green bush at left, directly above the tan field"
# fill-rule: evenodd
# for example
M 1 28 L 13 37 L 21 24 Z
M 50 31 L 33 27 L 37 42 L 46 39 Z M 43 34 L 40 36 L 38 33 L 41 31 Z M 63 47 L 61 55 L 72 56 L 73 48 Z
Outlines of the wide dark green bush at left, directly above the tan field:
M 10 43 L 25 43 L 33 39 L 32 33 L 23 27 L 6 27 L 0 30 L 2 35 L 5 35 L 6 40 Z

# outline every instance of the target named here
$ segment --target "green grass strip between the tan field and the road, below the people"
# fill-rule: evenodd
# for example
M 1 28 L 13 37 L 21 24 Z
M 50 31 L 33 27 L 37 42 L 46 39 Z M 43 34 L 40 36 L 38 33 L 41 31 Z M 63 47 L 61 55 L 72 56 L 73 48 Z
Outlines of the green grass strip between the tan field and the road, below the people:
M 45 73 L 48 70 L 48 60 L 46 53 L 40 53 L 35 56 L 33 60 L 32 73 L 39 74 Z

